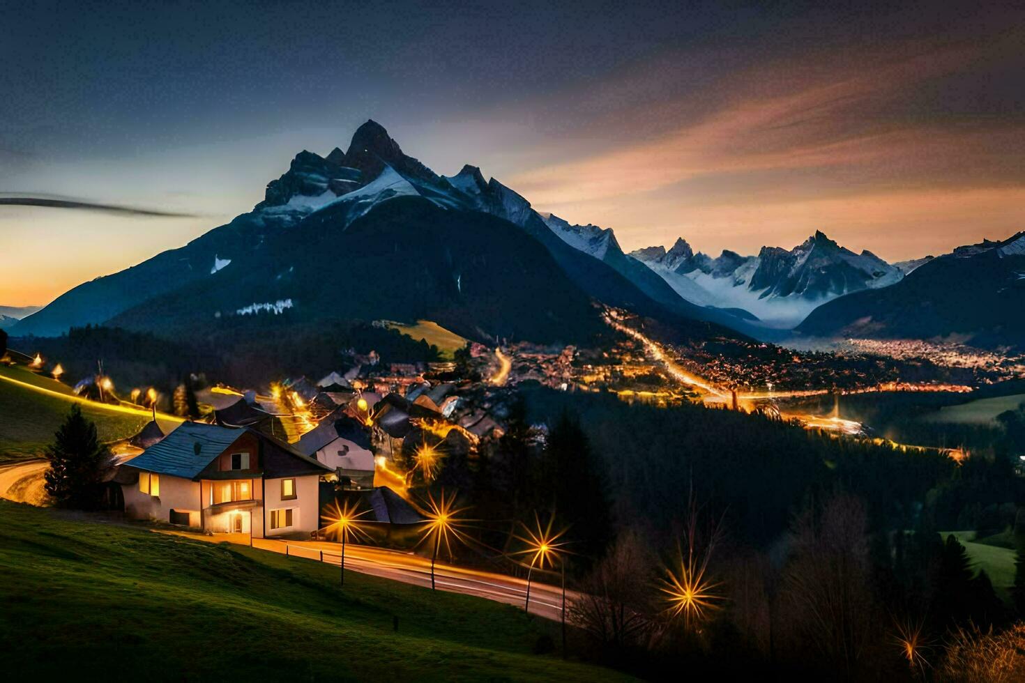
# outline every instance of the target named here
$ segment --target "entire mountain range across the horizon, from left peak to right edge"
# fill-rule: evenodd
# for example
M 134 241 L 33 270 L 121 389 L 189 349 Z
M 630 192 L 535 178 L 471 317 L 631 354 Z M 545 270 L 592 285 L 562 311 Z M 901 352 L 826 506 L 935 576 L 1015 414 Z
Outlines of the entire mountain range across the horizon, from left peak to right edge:
M 975 301 L 1012 303 L 1021 287 L 1015 278 L 1025 270 L 1013 265 L 1017 244 L 897 264 L 823 232 L 756 256 L 712 258 L 683 239 L 668 250 L 625 254 L 611 229 L 538 213 L 477 167 L 436 174 L 368 121 L 344 152 L 296 155 L 252 211 L 0 325 L 11 336 L 56 336 L 86 324 L 179 335 L 233 321 L 252 327 L 262 316 L 309 325 L 425 318 L 480 340 L 582 342 L 604 330 L 594 305 L 604 303 L 700 339 L 778 341 L 796 326 L 807 335 L 956 333 L 1007 343 L 1018 328 L 999 318 L 1016 308 L 986 317 L 946 307 L 963 306 L 968 291 Z M 1002 254 L 1000 267 L 971 285 L 969 272 L 934 275 L 951 259 L 963 265 L 969 253 L 996 258 L 983 256 L 993 250 Z M 924 282 L 934 288 L 931 308 L 914 309 L 914 296 L 925 296 L 914 286 Z

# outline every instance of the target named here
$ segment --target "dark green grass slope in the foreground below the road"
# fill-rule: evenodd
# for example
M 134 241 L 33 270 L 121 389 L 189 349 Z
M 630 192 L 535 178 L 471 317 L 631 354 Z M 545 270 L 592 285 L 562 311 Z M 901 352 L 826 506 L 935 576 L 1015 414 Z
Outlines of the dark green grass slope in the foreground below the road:
M 509 605 L 6 501 L 0 567 L 11 681 L 623 678 L 533 654 L 558 626 Z

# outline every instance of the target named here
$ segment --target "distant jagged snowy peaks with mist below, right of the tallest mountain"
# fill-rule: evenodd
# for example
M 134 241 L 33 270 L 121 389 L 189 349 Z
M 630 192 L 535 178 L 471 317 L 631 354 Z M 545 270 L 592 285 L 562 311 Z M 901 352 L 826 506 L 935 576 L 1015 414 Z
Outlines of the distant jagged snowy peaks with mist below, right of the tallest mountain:
M 856 254 L 817 231 L 791 250 L 763 247 L 757 256 L 724 250 L 695 253 L 680 239 L 671 249 L 630 253 L 683 298 L 703 306 L 741 308 L 771 328 L 791 328 L 826 301 L 900 282 L 903 272 L 869 251 Z

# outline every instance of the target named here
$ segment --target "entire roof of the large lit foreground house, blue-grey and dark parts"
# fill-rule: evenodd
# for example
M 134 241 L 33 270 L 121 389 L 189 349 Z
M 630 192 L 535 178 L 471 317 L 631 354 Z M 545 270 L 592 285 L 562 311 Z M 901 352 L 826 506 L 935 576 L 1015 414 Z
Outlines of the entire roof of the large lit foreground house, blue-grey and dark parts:
M 164 439 L 126 463 L 127 466 L 148 472 L 195 479 L 213 460 L 227 451 L 243 434 L 254 434 L 271 444 L 275 453 L 297 460 L 296 466 L 263 469 L 287 469 L 285 474 L 330 471 L 331 468 L 299 453 L 289 444 L 249 427 L 221 427 L 200 422 L 184 422 Z M 265 454 L 270 459 L 271 453 Z M 277 460 L 277 459 L 275 459 Z

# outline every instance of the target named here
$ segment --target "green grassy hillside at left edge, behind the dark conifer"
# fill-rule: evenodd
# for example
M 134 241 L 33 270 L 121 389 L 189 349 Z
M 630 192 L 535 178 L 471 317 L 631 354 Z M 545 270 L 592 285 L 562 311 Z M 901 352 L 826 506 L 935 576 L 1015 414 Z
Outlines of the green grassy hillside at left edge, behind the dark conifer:
M 68 396 L 65 398 L 42 393 L 0 380 L 0 462 L 40 457 L 43 447 L 53 439 L 53 432 L 71 410 L 71 389 L 24 368 L 0 366 L 0 376 Z M 82 414 L 96 423 L 96 431 L 104 441 L 131 436 L 149 420 L 145 415 L 121 413 L 101 403 L 80 404 Z M 176 425 L 176 422 L 170 421 L 161 423 L 165 431 Z

